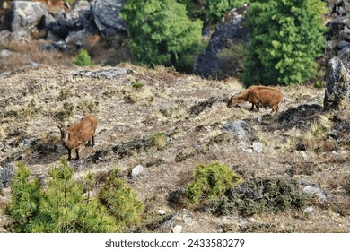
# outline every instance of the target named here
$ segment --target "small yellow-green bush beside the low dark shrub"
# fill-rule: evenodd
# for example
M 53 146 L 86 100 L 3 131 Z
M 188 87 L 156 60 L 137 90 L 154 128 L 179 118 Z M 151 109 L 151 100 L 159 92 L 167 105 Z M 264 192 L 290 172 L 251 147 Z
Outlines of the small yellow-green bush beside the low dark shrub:
M 242 181 L 242 178 L 232 169 L 219 163 L 199 165 L 194 175 L 195 180 L 188 185 L 186 191 L 194 205 L 221 197 L 229 187 L 236 186 Z

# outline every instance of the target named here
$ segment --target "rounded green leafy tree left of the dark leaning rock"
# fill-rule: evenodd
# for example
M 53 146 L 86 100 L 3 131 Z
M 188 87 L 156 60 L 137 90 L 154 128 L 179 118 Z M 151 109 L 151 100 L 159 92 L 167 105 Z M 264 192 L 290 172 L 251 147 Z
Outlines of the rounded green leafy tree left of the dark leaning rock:
M 200 43 L 202 22 L 192 22 L 184 4 L 176 0 L 128 0 L 121 17 L 127 22 L 130 50 L 137 61 L 192 69 L 190 57 Z

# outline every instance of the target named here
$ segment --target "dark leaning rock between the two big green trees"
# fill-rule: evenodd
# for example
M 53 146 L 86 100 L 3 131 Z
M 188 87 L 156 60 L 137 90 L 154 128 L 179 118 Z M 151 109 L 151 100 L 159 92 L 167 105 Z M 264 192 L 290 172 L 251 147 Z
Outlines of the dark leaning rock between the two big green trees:
M 216 77 L 220 68 L 217 54 L 223 48 L 231 48 L 232 44 L 242 40 L 247 41 L 248 30 L 242 26 L 245 20 L 243 11 L 233 9 L 227 16 L 227 20 L 222 25 L 216 27 L 206 51 L 198 56 L 195 64 L 194 74 L 203 77 Z

